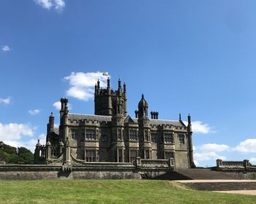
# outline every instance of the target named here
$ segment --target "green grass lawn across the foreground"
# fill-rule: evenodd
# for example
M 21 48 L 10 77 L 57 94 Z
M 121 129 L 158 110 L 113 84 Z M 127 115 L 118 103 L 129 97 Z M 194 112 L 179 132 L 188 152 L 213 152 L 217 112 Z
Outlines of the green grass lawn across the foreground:
M 149 180 L 0 181 L 0 203 L 256 203 L 253 195 L 200 192 Z

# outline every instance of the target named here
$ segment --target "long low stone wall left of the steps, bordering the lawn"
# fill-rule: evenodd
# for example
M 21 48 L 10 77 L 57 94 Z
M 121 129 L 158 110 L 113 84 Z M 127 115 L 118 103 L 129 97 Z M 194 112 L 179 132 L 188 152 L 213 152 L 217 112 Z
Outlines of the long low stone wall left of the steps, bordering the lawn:
M 0 165 L 0 180 L 33 179 L 140 179 L 170 171 L 167 166 L 136 167 L 132 163 L 88 163 L 85 165 Z

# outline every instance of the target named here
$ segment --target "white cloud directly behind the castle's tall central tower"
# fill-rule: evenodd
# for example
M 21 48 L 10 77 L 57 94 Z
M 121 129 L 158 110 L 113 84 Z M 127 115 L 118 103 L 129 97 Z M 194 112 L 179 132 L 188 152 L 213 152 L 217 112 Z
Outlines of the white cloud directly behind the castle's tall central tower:
M 103 72 L 72 72 L 70 76 L 64 77 L 69 82 L 69 90 L 67 95 L 78 98 L 83 101 L 89 101 L 94 98 L 94 85 L 99 79 L 100 86 L 107 85 L 107 79 L 110 76 L 103 76 Z

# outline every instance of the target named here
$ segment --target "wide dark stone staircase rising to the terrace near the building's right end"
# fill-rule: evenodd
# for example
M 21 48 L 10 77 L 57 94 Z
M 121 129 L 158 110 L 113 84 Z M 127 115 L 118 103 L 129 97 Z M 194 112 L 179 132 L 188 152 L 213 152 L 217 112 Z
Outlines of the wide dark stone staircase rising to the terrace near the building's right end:
M 195 179 L 237 179 L 230 176 L 227 173 L 222 173 L 217 170 L 211 170 L 211 168 L 187 168 L 187 169 L 175 169 L 173 172 L 165 173 L 160 176 L 156 176 L 153 179 L 156 180 L 195 180 Z

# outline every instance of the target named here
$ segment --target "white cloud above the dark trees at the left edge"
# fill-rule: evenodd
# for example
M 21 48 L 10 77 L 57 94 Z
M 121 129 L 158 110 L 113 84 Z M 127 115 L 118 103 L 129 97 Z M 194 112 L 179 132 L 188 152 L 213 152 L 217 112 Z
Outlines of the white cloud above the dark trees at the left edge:
M 0 141 L 17 141 L 21 136 L 33 136 L 33 130 L 29 125 L 9 123 L 0 123 Z

